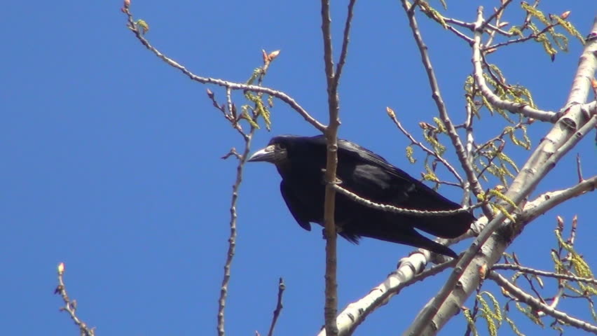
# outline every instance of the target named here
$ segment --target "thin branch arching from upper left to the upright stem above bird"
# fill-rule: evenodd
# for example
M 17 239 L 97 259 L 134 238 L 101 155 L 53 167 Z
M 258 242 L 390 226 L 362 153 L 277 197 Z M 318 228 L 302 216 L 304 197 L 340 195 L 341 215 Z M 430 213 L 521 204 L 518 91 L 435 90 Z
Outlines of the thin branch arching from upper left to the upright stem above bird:
M 198 83 L 213 84 L 213 85 L 218 85 L 221 87 L 226 87 L 230 90 L 248 90 L 251 92 L 261 92 L 261 93 L 269 94 L 270 96 L 276 97 L 277 99 L 282 100 L 282 102 L 288 104 L 288 106 L 290 106 L 292 109 L 294 109 L 294 111 L 298 112 L 303 117 L 303 119 L 305 119 L 308 123 L 313 125 L 313 127 L 317 128 L 317 130 L 320 130 L 321 132 L 324 132 L 325 125 L 323 125 L 322 123 L 317 121 L 315 118 L 310 116 L 310 114 L 303 108 L 303 106 L 301 106 L 298 102 L 296 102 L 296 100 L 294 100 L 292 97 L 290 97 L 288 94 L 286 94 L 282 91 L 274 90 L 270 87 L 262 87 L 259 85 L 247 85 L 247 84 L 243 84 L 243 83 L 235 83 L 235 82 L 230 82 L 228 80 L 222 80 L 219 78 L 210 78 L 210 77 L 202 77 L 202 76 L 195 75 L 194 73 L 192 73 L 191 71 L 186 69 L 185 66 L 182 66 L 181 64 L 175 62 L 170 57 L 167 57 L 166 55 L 164 55 L 157 48 L 153 47 L 153 45 L 151 45 L 149 43 L 149 41 L 147 41 L 146 38 L 144 38 L 143 33 L 141 31 L 139 31 L 137 24 L 135 24 L 135 22 L 133 21 L 132 15 L 129 11 L 129 8 L 123 8 L 123 12 L 128 17 L 129 29 L 133 32 L 133 34 L 135 34 L 137 39 L 145 46 L 145 48 L 147 48 L 151 52 L 153 52 L 153 54 L 155 54 L 157 57 L 159 57 L 164 62 L 166 62 L 166 64 L 174 67 L 175 69 L 179 69 L 182 73 L 184 73 L 186 76 L 188 76 L 188 78 L 191 78 L 191 80 L 195 80 Z

